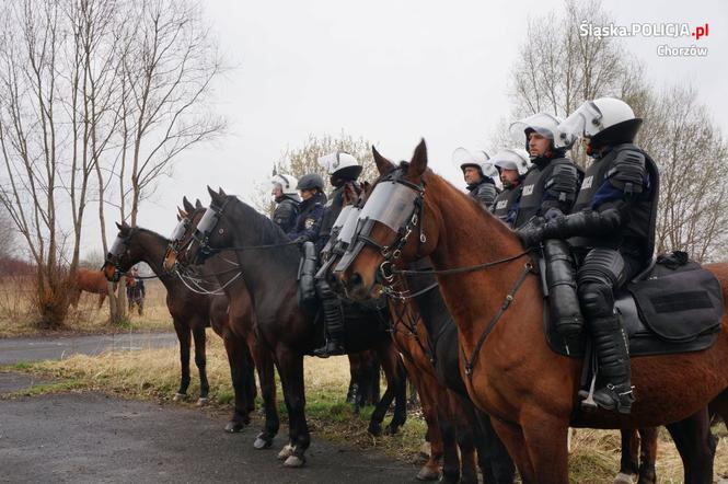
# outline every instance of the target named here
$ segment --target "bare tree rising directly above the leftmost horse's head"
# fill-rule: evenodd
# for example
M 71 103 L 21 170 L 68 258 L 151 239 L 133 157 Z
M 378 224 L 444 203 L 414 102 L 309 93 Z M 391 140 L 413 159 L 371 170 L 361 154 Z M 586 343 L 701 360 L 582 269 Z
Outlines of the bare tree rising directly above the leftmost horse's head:
M 210 105 L 223 71 L 215 39 L 192 1 L 130 0 L 120 31 L 119 146 L 113 172 L 122 220 L 136 224 L 149 197 L 185 149 L 221 135 Z

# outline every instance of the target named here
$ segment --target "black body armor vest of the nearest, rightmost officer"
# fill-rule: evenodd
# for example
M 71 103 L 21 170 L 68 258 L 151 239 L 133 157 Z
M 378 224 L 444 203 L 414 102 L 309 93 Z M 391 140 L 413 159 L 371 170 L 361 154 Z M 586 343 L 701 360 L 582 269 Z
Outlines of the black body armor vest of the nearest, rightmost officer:
M 575 237 L 569 239 L 574 247 L 609 247 L 624 254 L 648 261 L 655 251 L 655 224 L 657 221 L 657 200 L 659 196 L 659 174 L 655 161 L 634 145 L 620 145 L 604 158 L 596 160 L 587 170 L 579 195 L 574 203 L 573 214 L 592 208 L 594 195 L 605 181 L 616 155 L 622 150 L 637 150 L 645 154 L 645 168 L 649 175 L 650 189 L 640 194 L 627 205 L 627 222 L 612 234 L 599 238 Z M 624 216 L 624 215 L 623 215 Z

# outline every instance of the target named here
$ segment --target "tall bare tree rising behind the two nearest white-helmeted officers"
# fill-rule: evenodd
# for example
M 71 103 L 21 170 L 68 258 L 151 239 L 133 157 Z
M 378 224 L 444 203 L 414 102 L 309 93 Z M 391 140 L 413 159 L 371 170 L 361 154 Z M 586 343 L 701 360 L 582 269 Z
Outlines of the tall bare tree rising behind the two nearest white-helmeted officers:
M 643 65 L 619 38 L 580 35 L 582 21 L 613 19 L 600 0 L 567 0 L 562 12 L 530 18 L 528 35 L 511 70 L 511 118 L 545 112 L 565 117 L 585 100 L 612 95 L 627 102 L 644 94 Z M 502 127 L 493 135 L 502 140 Z M 571 153 L 581 165 L 580 147 Z

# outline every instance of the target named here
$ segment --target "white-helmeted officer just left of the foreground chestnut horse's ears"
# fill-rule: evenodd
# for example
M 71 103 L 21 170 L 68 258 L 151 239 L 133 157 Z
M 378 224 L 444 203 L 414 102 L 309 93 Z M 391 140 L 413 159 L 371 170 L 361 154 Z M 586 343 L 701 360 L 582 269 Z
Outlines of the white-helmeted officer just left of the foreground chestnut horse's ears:
M 332 235 L 331 232 L 334 222 L 344 207 L 344 192 L 347 185 L 356 193 L 361 192 L 357 178 L 361 174 L 363 166 L 351 154 L 343 151 L 321 157 L 319 164 L 326 169 L 331 176 L 330 182 L 334 187 L 334 191 L 328 196 L 321 232 L 316 240 L 316 253 L 321 254 L 321 250 L 326 245 Z M 313 353 L 322 358 L 327 358 L 331 355 L 343 355 L 346 353 L 346 349 L 344 348 L 345 327 L 342 303 L 338 296 L 331 289 L 325 279 L 316 279 L 316 293 L 321 299 L 324 310 L 326 342 L 324 346 L 316 348 Z

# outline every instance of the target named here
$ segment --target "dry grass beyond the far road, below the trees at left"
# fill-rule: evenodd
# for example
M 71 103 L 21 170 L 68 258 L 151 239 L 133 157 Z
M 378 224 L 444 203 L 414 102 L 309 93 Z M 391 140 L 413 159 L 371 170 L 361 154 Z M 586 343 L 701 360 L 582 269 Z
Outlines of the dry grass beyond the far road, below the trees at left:
M 129 315 L 124 326 L 108 323 L 108 299 L 99 309 L 99 296 L 83 292 L 77 309 L 69 308 L 61 332 L 39 331 L 37 314 L 31 303 L 33 285 L 27 278 L 0 278 L 0 337 L 30 336 L 59 333 L 114 333 L 117 331 L 171 331 L 172 319 L 166 310 L 166 290 L 159 280 L 148 280 L 145 315 Z

